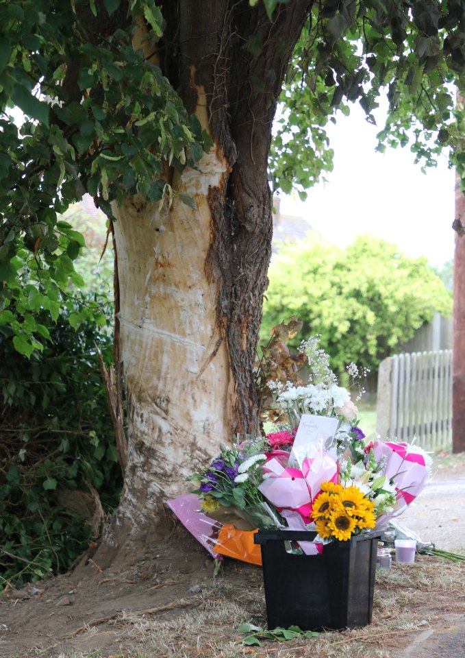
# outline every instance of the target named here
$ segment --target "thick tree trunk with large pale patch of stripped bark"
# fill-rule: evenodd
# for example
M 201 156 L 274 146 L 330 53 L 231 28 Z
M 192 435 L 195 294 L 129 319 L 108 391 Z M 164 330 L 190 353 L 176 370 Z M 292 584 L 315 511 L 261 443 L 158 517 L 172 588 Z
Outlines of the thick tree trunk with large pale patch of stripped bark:
M 197 170 L 170 174 L 197 210 L 175 195 L 171 206 L 128 199 L 116 211 L 125 533 L 158 517 L 160 500 L 184 491 L 221 443 L 257 430 L 253 364 L 273 228 L 268 151 L 310 6 L 278 5 L 270 22 L 248 0 L 162 5 L 160 66 L 214 147 Z

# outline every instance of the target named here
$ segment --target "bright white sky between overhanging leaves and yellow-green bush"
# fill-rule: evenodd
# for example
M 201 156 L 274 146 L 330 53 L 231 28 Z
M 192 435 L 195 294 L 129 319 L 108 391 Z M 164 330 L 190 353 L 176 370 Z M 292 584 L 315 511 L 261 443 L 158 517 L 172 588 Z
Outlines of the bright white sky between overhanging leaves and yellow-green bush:
M 382 126 L 382 119 L 378 127 L 367 123 L 358 105 L 349 117 L 340 114 L 328 130 L 334 171 L 326 175 L 327 183 L 314 186 L 305 202 L 297 194 L 281 194 L 280 210 L 305 217 L 340 247 L 372 234 L 440 267 L 453 258 L 454 172 L 445 155 L 423 174 L 408 146 L 376 153 Z

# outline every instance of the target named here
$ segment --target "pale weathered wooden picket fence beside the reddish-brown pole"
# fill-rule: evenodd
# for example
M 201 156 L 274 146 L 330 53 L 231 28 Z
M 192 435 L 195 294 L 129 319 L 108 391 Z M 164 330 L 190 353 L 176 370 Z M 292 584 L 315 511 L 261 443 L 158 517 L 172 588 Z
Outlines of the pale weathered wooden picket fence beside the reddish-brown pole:
M 426 450 L 452 444 L 452 350 L 396 354 L 378 371 L 377 433 Z

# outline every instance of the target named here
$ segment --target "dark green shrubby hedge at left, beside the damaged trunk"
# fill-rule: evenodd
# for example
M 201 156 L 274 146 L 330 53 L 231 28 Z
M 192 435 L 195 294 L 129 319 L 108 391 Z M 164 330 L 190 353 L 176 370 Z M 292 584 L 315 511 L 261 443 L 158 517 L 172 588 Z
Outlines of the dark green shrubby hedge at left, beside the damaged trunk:
M 13 329 L 0 326 L 0 589 L 73 564 L 90 541 L 90 487 L 107 511 L 118 503 L 121 472 L 96 350 L 111 363 L 112 309 L 76 295 L 56 322 L 38 310 L 49 339 L 29 358 L 14 349 Z M 99 322 L 82 316 L 88 305 Z

